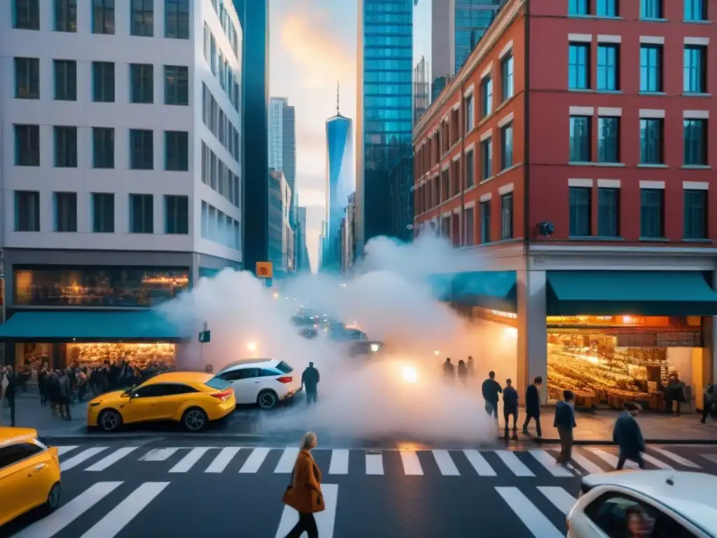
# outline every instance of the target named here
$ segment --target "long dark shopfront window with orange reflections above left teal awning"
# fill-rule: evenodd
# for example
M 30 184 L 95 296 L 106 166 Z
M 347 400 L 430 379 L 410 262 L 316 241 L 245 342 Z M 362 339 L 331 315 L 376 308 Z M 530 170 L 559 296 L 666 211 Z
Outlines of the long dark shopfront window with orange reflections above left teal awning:
M 189 287 L 189 268 L 14 268 L 15 306 L 156 306 Z

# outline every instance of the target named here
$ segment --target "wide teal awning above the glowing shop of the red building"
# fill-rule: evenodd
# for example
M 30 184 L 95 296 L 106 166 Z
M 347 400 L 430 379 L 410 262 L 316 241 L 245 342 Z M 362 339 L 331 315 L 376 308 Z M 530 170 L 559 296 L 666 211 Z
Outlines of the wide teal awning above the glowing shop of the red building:
M 716 316 L 717 293 L 693 271 L 548 271 L 549 316 Z

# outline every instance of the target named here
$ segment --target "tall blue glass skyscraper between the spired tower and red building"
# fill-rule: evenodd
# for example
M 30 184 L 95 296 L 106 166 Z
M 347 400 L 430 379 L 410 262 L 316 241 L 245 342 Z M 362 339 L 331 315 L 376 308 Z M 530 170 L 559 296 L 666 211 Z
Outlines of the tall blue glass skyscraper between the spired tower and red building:
M 390 233 L 389 170 L 411 146 L 414 0 L 359 0 L 356 97 L 357 255 Z

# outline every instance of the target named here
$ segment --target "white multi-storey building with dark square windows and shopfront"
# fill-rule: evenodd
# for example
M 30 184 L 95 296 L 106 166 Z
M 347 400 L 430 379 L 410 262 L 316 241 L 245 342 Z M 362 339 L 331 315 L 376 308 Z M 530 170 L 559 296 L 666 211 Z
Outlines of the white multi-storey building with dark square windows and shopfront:
M 148 316 L 141 310 L 201 275 L 242 267 L 237 14 L 227 1 L 210 0 L 126 8 L 60 0 L 2 6 L 0 237 L 8 321 L 1 338 L 17 336 L 9 362 L 25 364 L 39 342 L 55 361 L 84 358 L 122 331 L 126 346 L 136 338 L 150 345 L 152 335 L 128 312 Z M 50 313 L 32 322 L 43 310 L 85 318 L 50 337 L 45 330 L 67 324 Z M 105 323 L 108 310 L 126 313 L 121 330 Z M 17 328 L 22 323 L 37 334 Z M 105 333 L 86 335 L 80 349 L 91 326 Z M 174 354 L 174 344 L 151 342 L 153 349 L 160 344 L 162 354 L 170 354 L 164 344 Z M 114 345 L 105 342 L 103 351 Z

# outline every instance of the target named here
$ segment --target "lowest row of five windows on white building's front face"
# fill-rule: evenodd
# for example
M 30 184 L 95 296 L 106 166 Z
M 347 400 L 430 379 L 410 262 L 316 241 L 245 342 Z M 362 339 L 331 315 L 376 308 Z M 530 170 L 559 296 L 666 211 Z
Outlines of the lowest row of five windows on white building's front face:
M 77 192 L 54 192 L 52 230 L 77 232 Z M 115 232 L 115 194 L 93 192 L 90 198 L 91 226 L 95 233 Z M 152 234 L 154 225 L 153 194 L 129 195 L 129 231 Z M 16 232 L 40 231 L 40 193 L 15 191 Z M 164 233 L 189 234 L 189 197 L 166 194 L 164 196 Z

